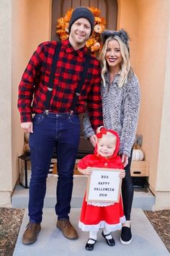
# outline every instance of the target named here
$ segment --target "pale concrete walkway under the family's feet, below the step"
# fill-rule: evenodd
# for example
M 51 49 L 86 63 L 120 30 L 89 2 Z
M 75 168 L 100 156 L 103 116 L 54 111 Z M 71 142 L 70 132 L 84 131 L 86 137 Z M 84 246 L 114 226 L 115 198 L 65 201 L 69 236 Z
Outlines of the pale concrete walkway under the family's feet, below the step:
M 42 231 L 37 242 L 24 245 L 22 244 L 22 234 L 28 221 L 26 210 L 13 256 L 169 256 L 164 243 L 161 242 L 141 209 L 134 208 L 132 211 L 133 242 L 130 245 L 120 244 L 120 231 L 116 231 L 113 233 L 115 247 L 109 247 L 99 231 L 98 242 L 92 252 L 84 249 L 89 234 L 79 230 L 79 214 L 79 208 L 71 210 L 71 222 L 79 232 L 79 239 L 71 241 L 64 238 L 61 231 L 55 228 L 54 210 L 45 208 Z

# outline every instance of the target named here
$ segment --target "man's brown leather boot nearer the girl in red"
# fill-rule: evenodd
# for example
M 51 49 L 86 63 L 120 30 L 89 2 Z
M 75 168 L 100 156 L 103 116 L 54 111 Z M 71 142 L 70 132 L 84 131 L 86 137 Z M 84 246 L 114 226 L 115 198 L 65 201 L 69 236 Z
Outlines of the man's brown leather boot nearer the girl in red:
M 71 225 L 70 221 L 66 218 L 57 221 L 57 228 L 63 232 L 63 236 L 68 239 L 77 239 L 78 234 L 76 229 Z

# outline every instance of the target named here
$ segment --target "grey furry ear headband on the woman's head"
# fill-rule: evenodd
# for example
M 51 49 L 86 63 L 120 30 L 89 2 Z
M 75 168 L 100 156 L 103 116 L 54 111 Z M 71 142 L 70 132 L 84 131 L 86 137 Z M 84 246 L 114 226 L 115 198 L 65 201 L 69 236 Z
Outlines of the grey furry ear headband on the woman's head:
M 120 40 L 122 40 L 122 42 L 125 43 L 126 47 L 128 48 L 128 51 L 129 51 L 130 37 L 125 30 L 118 30 L 118 31 L 104 30 L 104 32 L 102 33 L 102 42 L 105 43 L 107 38 L 109 38 L 109 37 L 115 38 L 115 36 L 118 36 L 120 38 Z

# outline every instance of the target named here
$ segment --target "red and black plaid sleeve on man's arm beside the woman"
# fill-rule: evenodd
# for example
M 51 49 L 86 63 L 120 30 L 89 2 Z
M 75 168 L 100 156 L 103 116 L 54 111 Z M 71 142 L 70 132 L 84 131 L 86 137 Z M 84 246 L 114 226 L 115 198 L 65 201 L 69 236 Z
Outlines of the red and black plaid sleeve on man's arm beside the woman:
M 95 67 L 95 66 L 94 66 Z M 97 127 L 103 125 L 102 118 L 102 98 L 100 93 L 101 85 L 101 68 L 99 61 L 94 68 L 94 83 L 91 87 L 91 91 L 88 96 L 87 108 L 89 113 L 89 119 L 91 122 L 91 127 L 96 132 Z

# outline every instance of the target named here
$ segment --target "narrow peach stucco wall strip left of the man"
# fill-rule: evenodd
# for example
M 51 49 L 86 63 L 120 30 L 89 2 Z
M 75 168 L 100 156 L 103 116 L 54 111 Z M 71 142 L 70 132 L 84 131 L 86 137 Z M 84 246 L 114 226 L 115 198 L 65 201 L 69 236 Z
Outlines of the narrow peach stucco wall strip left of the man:
M 27 4 L 28 0 L 12 1 L 12 189 L 18 179 L 17 156 L 22 154 L 24 143 L 17 111 L 17 93 L 27 61 Z

